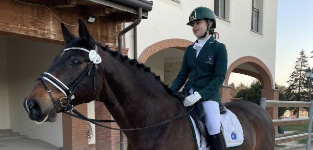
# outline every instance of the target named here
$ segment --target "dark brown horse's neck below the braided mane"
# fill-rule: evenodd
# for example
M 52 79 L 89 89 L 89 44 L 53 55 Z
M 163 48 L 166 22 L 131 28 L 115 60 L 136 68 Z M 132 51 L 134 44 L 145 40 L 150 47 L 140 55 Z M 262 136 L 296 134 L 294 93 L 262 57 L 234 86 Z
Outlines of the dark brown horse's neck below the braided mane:
M 150 72 L 111 59 L 104 63 L 102 100 L 121 128 L 147 127 L 183 113 L 179 100 Z

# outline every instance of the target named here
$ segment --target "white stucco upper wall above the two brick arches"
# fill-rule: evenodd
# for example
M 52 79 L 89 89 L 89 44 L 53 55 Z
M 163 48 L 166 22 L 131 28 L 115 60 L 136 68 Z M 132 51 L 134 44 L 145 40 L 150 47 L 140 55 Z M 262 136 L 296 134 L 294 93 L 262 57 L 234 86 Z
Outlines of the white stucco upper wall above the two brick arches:
M 262 34 L 251 31 L 252 0 L 230 0 L 229 21 L 217 19 L 219 42 L 226 45 L 228 66 L 244 56 L 262 60 L 275 83 L 275 54 L 278 0 L 264 0 Z M 148 19 L 137 27 L 138 57 L 148 46 L 171 38 L 195 41 L 192 28 L 186 26 L 190 12 L 205 6 L 214 10 L 214 0 L 153 0 Z M 130 25 L 129 23 L 126 26 Z M 133 30 L 126 34 L 126 47 L 133 57 Z

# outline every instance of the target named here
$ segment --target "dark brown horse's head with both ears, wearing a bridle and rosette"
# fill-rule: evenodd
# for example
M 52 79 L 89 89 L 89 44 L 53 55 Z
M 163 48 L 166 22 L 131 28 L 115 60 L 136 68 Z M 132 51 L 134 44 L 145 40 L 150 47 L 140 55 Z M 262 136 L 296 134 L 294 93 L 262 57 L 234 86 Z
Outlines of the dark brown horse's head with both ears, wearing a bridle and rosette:
M 56 113 L 63 112 L 66 107 L 62 106 L 69 103 L 67 98 L 75 98 L 71 103 L 74 106 L 88 103 L 99 93 L 93 86 L 97 90 L 102 88 L 94 82 L 96 64 L 101 62 L 101 58 L 96 53 L 96 43 L 85 23 L 79 19 L 78 38 L 63 24 L 61 26 L 66 46 L 53 60 L 48 71 L 38 78 L 34 89 L 23 103 L 29 119 L 38 124 L 44 121 L 54 122 Z M 95 59 L 94 63 L 91 62 L 92 59 Z M 97 78 L 97 83 L 101 83 L 101 78 Z M 75 97 L 71 93 L 75 93 Z

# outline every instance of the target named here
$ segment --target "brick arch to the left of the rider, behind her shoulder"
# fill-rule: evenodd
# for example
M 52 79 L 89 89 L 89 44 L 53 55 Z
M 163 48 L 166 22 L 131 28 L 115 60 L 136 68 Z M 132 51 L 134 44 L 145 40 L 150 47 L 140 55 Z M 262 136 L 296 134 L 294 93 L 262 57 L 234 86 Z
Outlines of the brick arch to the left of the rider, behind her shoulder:
M 146 49 L 144 49 L 144 51 L 139 56 L 138 61 L 141 63 L 145 63 L 146 60 L 151 55 L 166 48 L 176 48 L 182 51 L 186 51 L 187 47 L 193 43 L 194 42 L 191 42 L 189 40 L 179 39 L 179 38 L 172 38 L 172 39 L 159 41 L 148 46 Z

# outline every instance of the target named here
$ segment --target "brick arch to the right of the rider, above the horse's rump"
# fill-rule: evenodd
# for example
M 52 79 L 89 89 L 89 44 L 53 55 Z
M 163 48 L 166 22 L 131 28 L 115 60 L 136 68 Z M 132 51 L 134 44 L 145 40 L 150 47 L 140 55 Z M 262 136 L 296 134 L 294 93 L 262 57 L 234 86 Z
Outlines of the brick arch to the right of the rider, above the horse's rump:
M 260 74 L 252 72 L 252 71 L 236 68 L 238 65 L 242 63 L 248 63 L 252 65 Z M 258 58 L 255 58 L 252 56 L 246 56 L 231 63 L 226 72 L 224 85 L 228 85 L 228 80 L 229 80 L 229 76 L 231 72 L 241 73 L 241 74 L 245 74 L 245 75 L 257 78 L 261 82 L 263 89 L 267 89 L 267 90 L 274 89 L 273 79 L 272 79 L 272 76 L 268 67 L 265 65 L 264 62 L 262 62 Z

